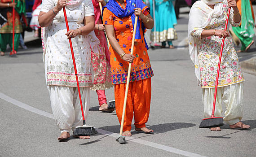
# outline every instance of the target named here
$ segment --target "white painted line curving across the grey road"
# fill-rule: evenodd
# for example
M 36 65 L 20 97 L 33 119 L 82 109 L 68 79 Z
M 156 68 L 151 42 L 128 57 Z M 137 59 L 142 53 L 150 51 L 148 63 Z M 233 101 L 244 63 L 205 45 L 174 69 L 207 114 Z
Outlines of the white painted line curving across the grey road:
M 9 96 L 6 96 L 5 94 L 3 94 L 1 92 L 0 92 L 0 99 L 8 101 L 9 103 L 12 103 L 13 105 L 21 107 L 22 109 L 26 109 L 26 110 L 31 111 L 33 113 L 37 113 L 37 114 L 40 114 L 42 116 L 54 119 L 53 114 L 48 113 L 48 112 L 44 112 L 40 109 L 36 109 L 36 108 L 34 108 L 30 105 L 26 105 L 26 104 L 24 104 L 24 103 L 22 103 L 18 100 L 15 100 L 15 99 L 13 99 Z M 112 137 L 115 137 L 115 138 L 119 137 L 119 134 L 111 132 L 111 131 L 106 131 L 106 130 L 102 130 L 102 129 L 98 129 L 98 128 L 96 128 L 96 130 L 99 133 L 104 134 L 104 135 L 109 135 L 109 136 L 112 136 Z M 128 141 L 138 143 L 138 144 L 143 144 L 143 145 L 150 146 L 150 147 L 153 147 L 153 148 L 158 148 L 158 149 L 161 149 L 161 150 L 165 150 L 165 151 L 168 151 L 170 153 L 176 153 L 176 154 L 184 155 L 186 157 L 205 157 L 205 156 L 202 156 L 202 155 L 199 155 L 199 154 L 196 154 L 196 153 L 190 153 L 190 152 L 187 152 L 187 151 L 184 151 L 184 150 L 181 150 L 181 149 L 168 147 L 168 146 L 165 146 L 165 145 L 162 145 L 162 144 L 156 144 L 154 142 L 141 140 L 141 139 L 137 139 L 137 138 L 134 138 L 134 137 L 126 137 L 125 139 L 128 140 Z

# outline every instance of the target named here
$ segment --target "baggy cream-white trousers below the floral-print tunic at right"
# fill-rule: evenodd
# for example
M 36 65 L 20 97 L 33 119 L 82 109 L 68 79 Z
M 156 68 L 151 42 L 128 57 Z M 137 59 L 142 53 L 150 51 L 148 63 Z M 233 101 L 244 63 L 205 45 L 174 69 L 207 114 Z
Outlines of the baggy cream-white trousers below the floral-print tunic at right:
M 212 116 L 212 105 L 215 88 L 203 89 L 204 118 Z M 240 122 L 243 118 L 243 82 L 225 87 L 218 87 L 215 105 L 215 117 L 221 117 L 222 107 L 226 106 L 223 120 L 229 125 Z

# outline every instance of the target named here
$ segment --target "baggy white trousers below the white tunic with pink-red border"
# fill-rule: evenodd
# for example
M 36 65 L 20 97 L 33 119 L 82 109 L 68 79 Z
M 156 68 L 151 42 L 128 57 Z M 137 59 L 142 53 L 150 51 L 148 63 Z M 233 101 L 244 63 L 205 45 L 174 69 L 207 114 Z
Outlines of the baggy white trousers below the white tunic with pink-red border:
M 83 125 L 77 87 L 48 86 L 53 116 L 61 132 L 75 131 L 76 126 Z M 90 87 L 80 88 L 84 118 L 86 121 L 90 106 Z

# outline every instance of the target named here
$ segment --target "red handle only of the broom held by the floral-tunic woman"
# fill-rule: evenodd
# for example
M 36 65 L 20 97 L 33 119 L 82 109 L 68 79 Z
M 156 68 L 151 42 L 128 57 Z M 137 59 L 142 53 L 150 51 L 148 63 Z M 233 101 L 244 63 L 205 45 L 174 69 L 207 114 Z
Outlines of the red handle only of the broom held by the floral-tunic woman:
M 226 19 L 226 24 L 225 24 L 225 31 L 227 31 L 228 23 L 229 23 L 229 18 L 230 18 L 230 7 L 228 10 L 228 16 Z M 218 83 L 219 83 L 219 74 L 220 74 L 220 67 L 221 67 L 221 56 L 223 52 L 223 47 L 224 47 L 224 41 L 225 37 L 222 39 L 221 43 L 221 52 L 220 52 L 220 57 L 219 57 L 219 64 L 218 64 L 218 70 L 217 70 L 217 77 L 216 77 L 216 83 L 215 83 L 215 92 L 214 92 L 214 100 L 213 100 L 213 107 L 212 107 L 212 117 L 214 117 L 214 111 L 215 111 L 215 104 L 216 104 L 216 96 L 217 96 L 217 88 L 218 88 Z

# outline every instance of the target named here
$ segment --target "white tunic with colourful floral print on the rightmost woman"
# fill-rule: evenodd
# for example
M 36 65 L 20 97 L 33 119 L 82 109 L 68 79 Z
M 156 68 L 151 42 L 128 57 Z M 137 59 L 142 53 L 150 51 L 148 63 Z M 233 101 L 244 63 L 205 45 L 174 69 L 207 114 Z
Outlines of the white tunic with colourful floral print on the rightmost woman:
M 209 8 L 210 9 L 210 8 Z M 224 30 L 227 18 L 228 6 L 227 1 L 223 2 L 223 14 L 220 17 L 212 18 L 212 21 L 204 29 Z M 233 20 L 233 14 L 230 14 L 232 26 L 239 26 Z M 227 29 L 229 30 L 229 28 Z M 192 31 L 192 36 L 198 38 L 198 58 L 201 74 L 202 88 L 215 87 L 216 74 L 218 69 L 219 55 L 221 50 L 222 38 L 218 36 L 209 36 L 201 39 L 203 29 Z M 221 67 L 218 87 L 223 87 L 235 83 L 243 82 L 243 74 L 239 66 L 238 56 L 234 49 L 231 37 L 225 38 L 224 48 L 221 57 Z

